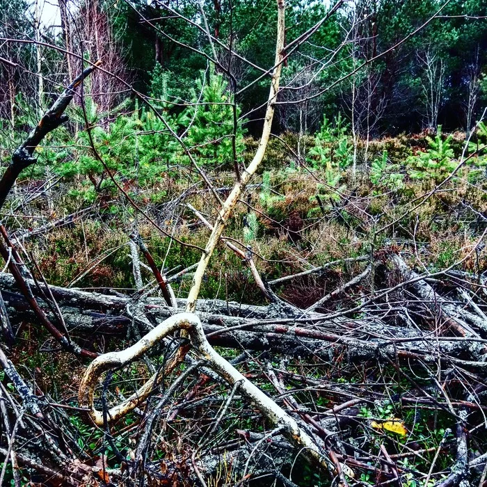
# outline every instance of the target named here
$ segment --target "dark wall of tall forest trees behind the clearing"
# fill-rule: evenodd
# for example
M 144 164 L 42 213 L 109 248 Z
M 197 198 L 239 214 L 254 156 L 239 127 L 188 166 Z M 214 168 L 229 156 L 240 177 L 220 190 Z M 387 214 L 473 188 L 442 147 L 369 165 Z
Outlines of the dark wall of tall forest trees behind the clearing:
M 101 1 L 61 1 L 61 16 L 50 19 L 44 14 L 45 20 L 57 23 L 45 25 L 42 10 L 51 11 L 55 2 L 54 7 L 39 6 L 36 10 L 32 3 L 3 0 L 2 38 L 22 38 L 29 43 L 3 41 L 1 46 L 2 56 L 17 63 L 0 67 L 6 81 L 0 95 L 2 118 L 10 124 L 15 124 L 16 118 L 22 120 L 27 108 L 22 101 L 31 109 L 35 108 L 33 100 L 37 105 L 48 104 L 56 83 L 63 83 L 67 74 L 79 69 L 79 58 L 66 58 L 62 49 L 76 49 L 91 61 L 103 58 L 104 69 L 120 78 L 109 80 L 98 73 L 93 88 L 85 88 L 96 92 L 97 83 L 103 86 L 106 93 L 95 97 L 102 111 L 127 98 L 134 101 L 134 93 L 127 86 L 124 89 L 122 81 L 145 95 L 188 102 L 202 72 L 209 76 L 211 48 L 204 29 L 194 28 L 202 22 L 199 2 L 167 5 L 184 18 L 170 15 L 162 2 L 105 5 Z M 289 2 L 288 38 L 308 31 L 329 7 L 326 2 Z M 368 131 L 373 137 L 436 129 L 438 125 L 449 131 L 468 129 L 486 96 L 486 3 L 445 2 L 435 19 L 411 35 L 440 7 L 442 3 L 433 0 L 346 2 L 345 8 L 330 16 L 326 29 L 319 29 L 313 41 L 304 42 L 289 60 L 275 129 L 312 132 L 319 127 L 323 113 L 328 118 L 342 113 L 349 121 L 353 113 L 354 129 L 360 134 Z M 231 70 L 231 79 L 225 83 L 236 93 L 248 133 L 258 134 L 263 113 L 258 107 L 266 102 L 267 90 L 265 78 L 255 79 L 262 73 L 257 67 L 266 66 L 273 58 L 273 4 L 264 0 L 231 5 L 215 1 L 203 8 L 216 49 L 221 49 L 218 42 L 232 38 L 234 49 L 249 61 L 235 56 L 229 67 L 222 51 L 216 71 L 223 74 Z M 36 39 L 42 44 L 36 45 Z M 40 75 L 45 77 L 42 100 L 38 96 Z M 241 90 L 250 81 L 253 84 Z M 284 103 L 288 101 L 292 104 Z M 177 106 L 171 109 L 180 111 Z

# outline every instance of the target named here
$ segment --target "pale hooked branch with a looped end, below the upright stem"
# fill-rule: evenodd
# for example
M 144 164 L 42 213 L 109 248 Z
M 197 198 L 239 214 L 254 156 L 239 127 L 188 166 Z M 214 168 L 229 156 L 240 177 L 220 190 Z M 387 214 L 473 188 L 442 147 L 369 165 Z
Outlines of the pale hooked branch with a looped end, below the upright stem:
M 161 342 L 163 337 L 175 332 L 176 330 L 185 330 L 191 340 L 191 345 L 200 355 L 207 360 L 209 367 L 219 376 L 225 379 L 230 385 L 237 385 L 239 392 L 255 406 L 260 413 L 266 417 L 273 425 L 282 426 L 282 431 L 287 439 L 296 447 L 303 449 L 303 452 L 315 462 L 327 468 L 325 457 L 321 454 L 319 448 L 312 438 L 305 433 L 296 421 L 289 416 L 285 410 L 280 408 L 270 397 L 267 397 L 262 390 L 251 383 L 248 378 L 242 375 L 235 367 L 221 357 L 208 343 L 202 328 L 200 319 L 193 313 L 175 314 L 161 322 L 156 328 L 151 330 L 136 344 L 128 349 L 105 353 L 91 362 L 88 369 L 81 379 L 79 386 L 79 404 L 82 408 L 89 409 L 89 415 L 97 426 L 103 426 L 103 413 L 95 408 L 94 396 L 95 388 L 99 383 L 99 378 L 109 370 L 118 369 L 129 364 L 133 360 L 140 358 L 144 353 Z M 136 394 L 129 399 L 113 406 L 108 411 L 108 419 L 116 420 L 127 414 L 131 410 L 132 404 L 138 404 L 147 397 L 152 390 L 150 381 L 145 383 Z

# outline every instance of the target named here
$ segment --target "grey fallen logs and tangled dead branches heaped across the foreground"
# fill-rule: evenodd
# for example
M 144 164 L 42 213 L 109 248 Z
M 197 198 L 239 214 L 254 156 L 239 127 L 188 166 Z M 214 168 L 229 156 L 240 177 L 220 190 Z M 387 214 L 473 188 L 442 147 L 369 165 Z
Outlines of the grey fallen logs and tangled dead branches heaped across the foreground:
M 389 289 L 376 289 L 378 296 L 388 298 L 378 298 L 373 303 L 366 301 L 362 310 L 354 313 L 353 317 L 346 312 L 307 312 L 281 303 L 253 306 L 217 300 L 198 300 L 195 314 L 188 314 L 181 311 L 184 300 L 177 300 L 179 309 L 175 310 L 167 305 L 164 298 L 144 297 L 141 294 L 99 294 L 55 286 L 49 286 L 48 292 L 47 285 L 27 280 L 40 308 L 45 310 L 49 319 L 56 319 L 52 311 L 55 301 L 71 339 L 75 337 L 87 348 L 93 347 L 101 337 L 124 337 L 134 327 L 137 333 L 143 335 L 129 349 L 106 353 L 92 362 L 79 387 L 79 406 L 105 431 L 106 441 L 109 436 L 117 438 L 115 431 L 120 434 L 120 418 L 134 414 L 129 410 L 136 414 L 134 424 L 137 426 L 131 428 L 138 431 L 136 435 L 147 436 L 147 430 L 141 429 L 144 424 L 146 428 L 150 424 L 154 431 L 149 436 L 152 440 L 145 439 L 142 466 L 138 456 L 134 458 L 133 465 L 124 458 L 122 465 L 125 466 L 118 469 L 109 468 L 109 465 L 89 465 L 83 449 L 74 447 L 76 433 L 72 424 L 67 423 L 65 410 L 50 404 L 49 398 L 43 397 L 40 391 L 29 390 L 24 379 L 4 357 L 3 367 L 15 387 L 14 394 L 5 388 L 2 392 L 8 399 L 4 404 L 6 418 L 9 418 L 9 424 L 12 423 L 9 426 L 12 448 L 8 454 L 15 456 L 17 464 L 37 469 L 35 450 L 41 445 L 28 439 L 35 431 L 45 429 L 56 431 L 54 437 L 48 435 L 42 440 L 42 449 L 49 450 L 51 464 L 43 462 L 43 470 L 38 471 L 45 474 L 57 472 L 58 477 L 68 482 L 67 472 L 72 472 L 75 462 L 79 466 L 74 470 L 77 474 L 70 480 L 73 485 L 87 474 L 98 474 L 103 469 L 104 474 L 115 483 L 127 482 L 128 478 L 141 474 L 147 475 L 147 478 L 162 478 L 192 472 L 195 477 L 204 479 L 218 470 L 224 452 L 230 455 L 228 458 L 232 458 L 232 474 L 241 478 L 263 472 L 278 475 L 282 465 L 291 461 L 292 452 L 300 449 L 311 461 L 339 475 L 344 484 L 359 472 L 373 472 L 383 479 L 394 479 L 394 475 L 404 478 L 408 469 L 401 469 L 394 456 L 388 454 L 388 458 L 384 453 L 383 458 L 367 457 L 361 448 L 351 442 L 354 435 L 373 431 L 369 420 L 358 415 L 358 406 L 385 401 L 388 398 L 387 385 L 362 385 L 357 389 L 353 383 L 338 384 L 333 380 L 334 374 L 349 374 L 345 371 L 350 367 L 368 369 L 370 364 L 378 363 L 379 367 L 395 369 L 409 381 L 409 387 L 393 401 L 394 409 L 402 410 L 413 405 L 416 410 L 433 407 L 449 418 L 452 431 L 456 431 L 457 460 L 452 466 L 451 478 L 444 481 L 448 482 L 446 485 L 458 484 L 467 478 L 471 468 L 478 469 L 485 465 L 485 461 L 482 463 L 475 457 L 465 459 L 461 453 L 463 445 L 474 441 L 465 431 L 477 426 L 474 422 L 487 409 L 482 406 L 481 400 L 487 368 L 484 360 L 487 337 L 480 311 L 484 303 L 479 299 L 475 300 L 475 305 L 472 300 L 465 301 L 464 294 L 474 293 L 478 287 L 475 280 L 470 282 L 469 287 L 465 276 L 462 279 L 464 290 L 457 292 L 456 298 L 452 298 L 451 293 L 445 298 L 436 292 L 435 287 L 438 286 L 429 283 L 433 282 L 431 278 L 413 272 L 399 255 L 390 255 L 389 268 L 391 273 L 401 276 L 401 282 Z M 444 276 L 441 283 L 438 281 L 442 288 L 445 287 L 445 279 Z M 449 280 L 458 282 L 454 276 Z M 13 276 L 1 275 L 0 289 L 14 333 L 26 320 L 35 323 L 29 303 L 19 292 Z M 169 337 L 177 330 L 187 330 L 191 342 L 191 354 L 185 359 L 189 369 L 182 374 L 176 372 L 179 370 L 177 366 L 174 368 L 170 365 L 177 356 L 179 346 Z M 180 344 L 184 346 L 186 339 L 182 337 L 181 340 Z M 224 348 L 217 353 L 214 346 Z M 152 349 L 157 352 L 154 353 Z M 223 356 L 234 355 L 230 353 L 231 350 L 235 350 L 237 355 L 234 359 L 225 360 Z M 107 374 L 109 380 L 114 372 L 127 369 L 143 356 L 152 367 L 159 368 L 156 380 L 149 381 L 142 389 L 134 391 L 130 397 L 123 397 L 122 403 L 117 404 L 120 397 L 108 392 L 108 383 L 102 379 L 103 374 Z M 248 360 L 255 360 L 253 372 L 242 374 L 235 368 Z M 331 378 L 314 378 L 310 374 L 310 365 L 304 369 L 301 366 L 301 372 L 294 367 L 288 368 L 303 361 L 310 365 L 322 364 L 316 367 L 326 364 Z M 143 365 L 143 362 L 136 363 Z M 274 365 L 276 363 L 280 365 Z M 404 367 L 413 364 L 414 374 L 404 372 Z M 418 378 L 417 367 L 432 374 L 433 383 L 430 381 L 422 385 L 424 381 Z M 440 375 L 435 376 L 432 371 L 438 367 Z M 245 369 L 247 367 L 243 372 Z M 177 379 L 173 381 L 175 376 Z M 463 384 L 465 377 L 470 379 L 469 388 Z M 266 394 L 263 394 L 261 388 L 255 387 L 255 380 L 261 388 L 269 383 L 274 392 L 266 389 Z M 171 382 L 173 385 L 170 385 Z M 229 387 L 228 395 L 225 392 L 215 393 L 221 387 L 219 384 Z M 297 395 L 289 391 L 289 385 Z M 160 388 L 162 390 L 158 392 Z M 182 388 L 186 388 L 187 392 L 179 399 L 177 395 L 172 395 Z M 330 407 L 317 408 L 315 405 L 310 408 L 308 394 L 326 397 Z M 71 401 L 70 404 L 76 403 Z M 149 407 L 149 404 L 152 406 Z M 192 456 L 176 456 L 177 461 L 170 468 L 168 466 L 166 472 L 157 472 L 151 445 L 154 445 L 154 441 L 157 445 L 159 440 L 154 438 L 161 438 L 169 424 L 179 424 L 178 418 L 181 417 L 200 415 L 202 408 L 207 411 L 216 408 L 216 416 L 209 415 L 207 421 L 211 430 L 218 431 L 222 422 L 227 421 L 222 414 L 229 414 L 234 404 L 241 404 L 239 408 L 248 404 L 251 410 L 257 409 L 269 431 L 265 429 L 267 433 L 262 436 L 236 429 L 233 431 L 237 433 L 235 439 L 223 442 L 218 435 L 207 434 L 199 446 L 197 442 Z M 64 427 L 60 431 L 59 426 L 55 428 L 54 424 L 63 424 Z M 125 433 L 121 434 L 124 437 Z M 194 432 L 186 434 L 188 440 L 194 436 Z M 371 434 L 368 433 L 369 436 Z M 455 456 L 451 438 L 444 443 L 446 446 L 443 448 L 452 448 L 452 455 Z M 71 445 L 68 456 L 65 454 L 66 445 Z M 272 458 L 281 465 L 280 468 L 271 469 L 264 460 L 269 448 L 278 450 Z M 252 454 L 250 461 L 248 449 Z M 478 452 L 477 457 L 484 453 Z M 420 449 L 418 452 L 412 450 L 406 456 L 416 454 L 422 455 Z M 418 472 L 414 473 L 419 475 Z M 434 478 L 436 474 L 433 472 L 432 475 Z

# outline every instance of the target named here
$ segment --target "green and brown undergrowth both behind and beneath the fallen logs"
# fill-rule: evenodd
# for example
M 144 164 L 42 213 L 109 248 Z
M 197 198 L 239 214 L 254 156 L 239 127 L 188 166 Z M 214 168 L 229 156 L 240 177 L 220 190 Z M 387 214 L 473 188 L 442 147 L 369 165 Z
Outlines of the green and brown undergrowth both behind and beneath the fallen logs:
M 353 141 L 347 134 L 346 125 L 342 125 L 340 120 L 325 120 L 319 134 L 305 136 L 301 141 L 301 147 L 305 147 L 301 159 L 296 159 L 296 155 L 287 148 L 296 149 L 296 134 L 283 134 L 271 142 L 262 170 L 241 195 L 224 232 L 232 244 L 252 255 L 264 280 L 271 281 L 313 266 L 325 266 L 334 260 L 362 255 L 372 257 L 375 266 L 370 276 L 320 308 L 323 312 L 333 312 L 351 308 L 371 292 L 393 287 L 402 280 L 390 264 L 391 253 L 401 252 L 408 264 L 420 271 L 435 272 L 449 266 L 474 273 L 486 271 L 485 248 L 475 250 L 475 244 L 486 227 L 484 215 L 487 211 L 486 156 L 481 150 L 486 137 L 482 131 L 475 141 L 477 148 L 468 148 L 470 159 L 445 183 L 442 181 L 461 161 L 463 149 L 458 134 L 445 135 L 438 131 L 427 136 L 384 138 L 370 141 L 368 145 L 360 141 L 355 174 L 351 161 Z M 255 141 L 246 138 L 242 143 L 245 143 L 242 158 L 248 161 Z M 227 151 L 225 154 L 228 157 Z M 42 167 L 36 170 L 39 171 L 36 177 L 42 177 Z M 118 289 L 126 294 L 133 293 L 128 236 L 134 229 L 141 234 L 159 269 L 168 276 L 197 263 L 209 230 L 200 224 L 185 203 L 191 203 L 214 223 L 217 207 L 214 197 L 205 190 L 199 182 L 198 173 L 189 164 L 178 166 L 172 161 L 168 165 L 166 161 L 159 170 L 158 177 L 145 180 L 138 180 L 129 173 L 116 175 L 118 184 L 129 198 L 159 228 L 135 209 L 125 195 L 115 191 L 113 184 L 96 188 L 89 175 L 81 172 L 62 175 L 56 191 L 33 200 L 27 205 L 27 211 L 24 207 L 24 216 L 35 217 L 29 220 L 33 222 L 33 228 L 90 208 L 74 223 L 26 239 L 24 246 L 28 255 L 38 263 L 45 279 L 61 286 Z M 220 197 L 226 198 L 234 182 L 228 163 L 220 166 L 208 163 L 205 170 L 214 187 L 223 188 L 218 193 Z M 95 176 L 102 177 L 99 173 Z M 440 188 L 436 188 L 440 183 Z M 26 178 L 19 183 L 16 191 L 21 193 L 35 187 L 35 184 L 36 179 Z M 180 200 L 179 205 L 169 204 L 185 191 L 186 198 Z M 10 210 L 15 208 L 18 200 L 14 194 L 9 202 Z M 7 217 L 6 225 L 19 230 L 22 222 L 19 216 Z M 143 256 L 141 262 L 145 263 Z M 273 289 L 282 299 L 307 308 L 357 276 L 365 265 L 364 262 L 338 263 L 325 271 L 290 280 Z M 145 283 L 154 284 L 150 271 L 142 268 L 142 274 Z M 178 297 L 187 296 L 191 276 L 188 273 L 173 282 Z M 445 292 L 448 292 L 447 285 Z M 266 303 L 246 262 L 223 243 L 217 246 L 211 258 L 200 297 Z M 353 317 L 360 318 L 360 313 Z M 417 320 L 421 318 L 417 317 Z M 432 329 L 426 320 L 424 324 Z M 42 371 L 35 377 L 40 389 L 54 401 L 64 401 L 75 407 L 79 377 L 86 364 L 57 350 L 38 353 L 35 347 L 40 337 L 45 341 L 46 349 L 56 348 L 47 335 L 24 324 L 13 351 L 14 361 L 22 370 Z M 78 340 L 78 337 L 74 338 Z M 93 342 L 79 339 L 82 346 L 99 351 L 123 349 L 131 342 L 133 337 L 112 337 L 106 342 L 96 338 Z M 218 352 L 226 358 L 233 358 L 239 353 L 230 349 L 218 349 Z M 160 365 L 163 357 L 158 360 L 156 365 Z M 408 378 L 411 371 L 406 366 L 396 369 L 377 360 L 348 363 L 343 351 L 335 347 L 330 349 L 330 359 L 326 361 L 305 362 L 301 358 L 271 356 L 265 352 L 262 356 L 257 356 L 257 353 L 250 356 L 238 366 L 262 390 L 275 396 L 278 393 L 263 372 L 264 360 L 272 360 L 276 368 L 285 363 L 287 371 L 295 374 L 294 377 L 285 376 L 286 390 L 292 391 L 300 404 L 317 414 L 325 413 L 351 397 L 364 399 L 353 411 L 354 419 L 346 426 L 344 438 L 375 460 L 368 464 L 370 471 L 363 465 L 357 468 L 360 478 L 349 479 L 351 483 L 372 486 L 384 481 L 374 474 L 376 468 L 381 468 L 378 458 L 383 449 L 398 459 L 401 479 L 408 487 L 430 487 L 415 479 L 418 471 L 428 472 L 440 445 L 442 454 L 436 458 L 436 472 L 446 471 L 454 463 L 456 439 L 448 430 L 454 428 L 454 418 L 443 408 L 406 400 L 414 397 L 419 390 L 417 388 L 429 388 L 429 372 L 415 370 L 412 383 Z M 180 372 L 182 369 L 166 378 L 166 384 Z M 144 362 L 135 362 L 117 371 L 107 392 L 109 402 L 115 404 L 120 397 L 128 397 L 150 374 Z M 319 387 L 306 384 L 299 380 L 299 376 L 319 381 Z M 179 400 L 192 390 L 196 381 L 198 377 L 188 378 L 178 392 Z M 337 395 L 337 390 L 342 395 Z M 452 399 L 454 390 L 452 385 Z M 100 391 L 97 391 L 98 404 Z M 196 399 L 215 394 L 223 401 L 228 393 L 225 385 L 209 381 Z M 152 399 L 154 404 L 159 397 Z M 222 401 L 211 404 L 211 407 L 202 403 L 202 406 L 189 409 L 177 416 L 170 426 L 158 420 L 154 429 L 157 436 L 154 437 L 152 459 L 169 461 L 184 456 L 191 445 L 200 440 L 202 431 L 211 428 Z M 168 413 L 168 408 L 161 418 Z M 406 432 L 389 431 L 385 427 L 387 422 L 397 422 Z M 111 468 L 120 465 L 120 455 L 131 458 L 134 443 L 130 435 L 135 435 L 135 438 L 143 428 L 136 413 L 111 426 L 113 441 L 108 441 L 103 431 L 90 426 L 77 412 L 70 414 L 70 425 L 79 448 L 91 458 L 105 454 Z M 253 406 L 238 397 L 232 401 L 220 428 L 235 438 L 241 438 L 242 432 L 266 432 L 271 425 L 262 420 Z M 415 456 L 410 455 L 411 451 L 422 453 Z M 232 466 L 225 462 L 222 465 L 222 479 L 231 483 Z M 317 473 L 304 462 L 298 471 L 289 468 L 287 474 L 298 485 L 331 485 L 328 476 Z M 441 479 L 438 475 L 435 477 L 436 481 Z M 235 483 L 236 480 L 232 481 Z M 223 480 L 220 482 L 224 483 Z M 217 484 L 214 481 L 214 485 Z

